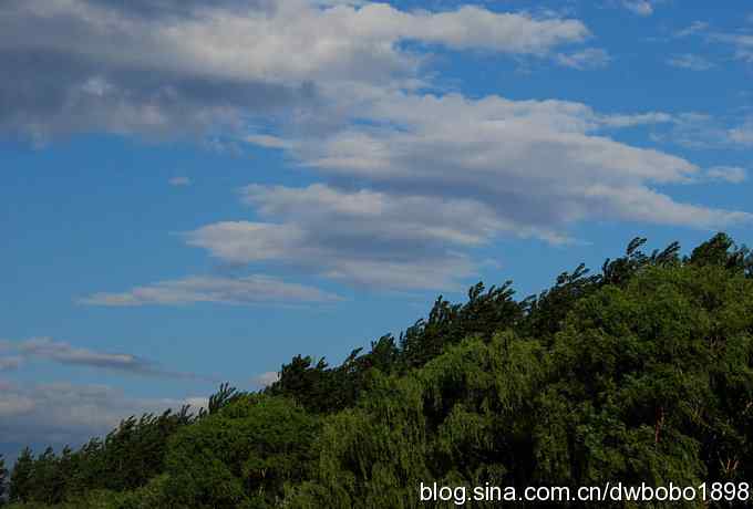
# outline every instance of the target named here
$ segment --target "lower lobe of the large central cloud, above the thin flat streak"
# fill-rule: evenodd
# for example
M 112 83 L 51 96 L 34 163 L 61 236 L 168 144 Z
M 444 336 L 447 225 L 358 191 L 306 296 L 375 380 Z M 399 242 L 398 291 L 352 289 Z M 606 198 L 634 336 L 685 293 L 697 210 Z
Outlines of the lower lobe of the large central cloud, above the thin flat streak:
M 244 200 L 278 222 L 219 222 L 187 235 L 192 246 L 234 263 L 309 269 L 370 287 L 441 289 L 473 272 L 453 248 L 486 242 L 505 227 L 471 199 L 395 196 L 323 185 L 249 186 Z

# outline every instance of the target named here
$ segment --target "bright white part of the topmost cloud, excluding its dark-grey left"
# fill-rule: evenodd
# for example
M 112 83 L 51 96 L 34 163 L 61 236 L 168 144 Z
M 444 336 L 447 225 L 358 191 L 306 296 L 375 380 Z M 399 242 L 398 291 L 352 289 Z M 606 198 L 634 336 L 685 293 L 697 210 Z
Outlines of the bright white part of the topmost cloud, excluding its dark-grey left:
M 216 73 L 241 79 L 373 82 L 379 80 L 376 73 L 386 76 L 416 63 L 396 46 L 400 41 L 546 54 L 587 35 L 577 20 L 534 19 L 472 6 L 446 12 L 405 12 L 386 3 L 316 9 L 309 2 L 285 0 L 271 13 L 239 17 L 215 11 L 205 19 L 169 27 L 157 40 L 185 62 L 202 62 Z

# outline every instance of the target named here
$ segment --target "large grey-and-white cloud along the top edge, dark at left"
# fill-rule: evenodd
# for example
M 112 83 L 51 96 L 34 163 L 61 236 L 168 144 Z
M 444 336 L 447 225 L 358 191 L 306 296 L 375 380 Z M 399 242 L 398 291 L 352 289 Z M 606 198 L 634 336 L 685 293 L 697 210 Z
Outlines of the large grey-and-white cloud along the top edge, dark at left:
M 0 129 L 39 143 L 238 131 L 337 83 L 405 85 L 423 59 L 404 41 L 543 56 L 589 34 L 578 20 L 471 6 L 308 0 L 8 0 L 0 14 Z

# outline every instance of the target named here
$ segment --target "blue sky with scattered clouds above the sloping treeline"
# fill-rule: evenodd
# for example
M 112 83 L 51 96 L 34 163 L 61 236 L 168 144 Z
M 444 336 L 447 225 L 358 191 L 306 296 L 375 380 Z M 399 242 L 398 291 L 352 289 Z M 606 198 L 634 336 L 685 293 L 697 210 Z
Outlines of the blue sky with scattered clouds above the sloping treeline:
M 753 6 L 3 0 L 0 454 L 753 227 Z

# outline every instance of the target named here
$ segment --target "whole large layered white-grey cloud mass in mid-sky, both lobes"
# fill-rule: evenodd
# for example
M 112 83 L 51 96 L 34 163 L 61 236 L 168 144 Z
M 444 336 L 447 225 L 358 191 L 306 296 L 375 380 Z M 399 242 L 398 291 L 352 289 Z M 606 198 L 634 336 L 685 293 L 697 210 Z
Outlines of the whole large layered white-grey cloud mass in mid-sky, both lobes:
M 752 218 L 674 201 L 660 186 L 700 183 L 702 168 L 608 136 L 675 125 L 675 115 L 384 91 L 369 91 L 348 111 L 358 114 L 339 127 L 279 138 L 327 185 L 246 187 L 241 199 L 259 220 L 206 225 L 187 242 L 233 263 L 434 290 L 473 274 L 473 249 L 502 236 L 563 242 L 582 220 L 723 228 Z

